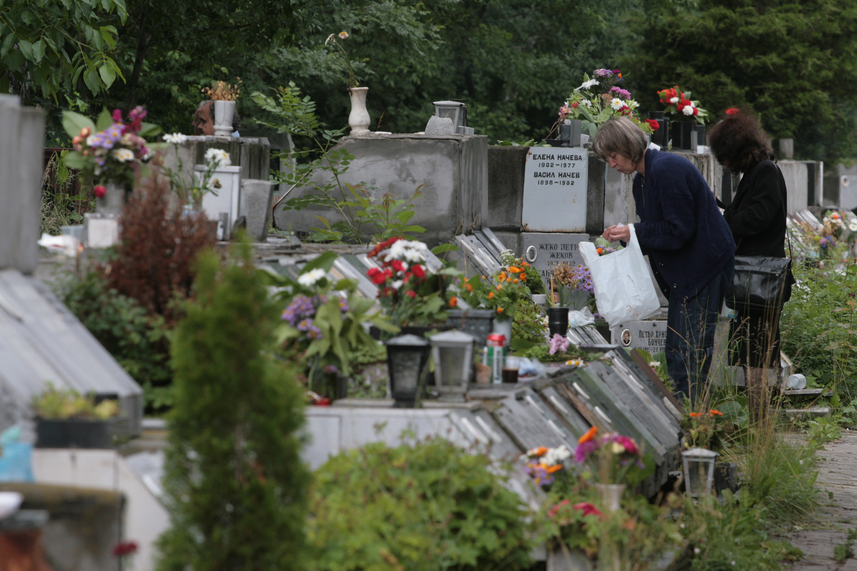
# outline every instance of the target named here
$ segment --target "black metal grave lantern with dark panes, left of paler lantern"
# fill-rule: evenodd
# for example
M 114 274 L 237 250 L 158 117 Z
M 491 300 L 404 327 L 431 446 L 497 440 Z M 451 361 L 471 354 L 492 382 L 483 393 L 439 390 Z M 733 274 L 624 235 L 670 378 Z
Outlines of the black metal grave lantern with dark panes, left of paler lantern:
M 400 335 L 387 340 L 387 372 L 397 408 L 413 408 L 423 381 L 431 344 L 423 337 Z

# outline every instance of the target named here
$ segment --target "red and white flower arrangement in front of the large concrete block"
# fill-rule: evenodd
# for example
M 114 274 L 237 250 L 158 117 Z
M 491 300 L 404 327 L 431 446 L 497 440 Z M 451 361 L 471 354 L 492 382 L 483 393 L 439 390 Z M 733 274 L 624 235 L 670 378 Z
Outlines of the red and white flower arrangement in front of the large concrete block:
M 367 256 L 381 264 L 369 268 L 366 275 L 378 286 L 378 300 L 393 324 L 442 323 L 448 318 L 447 311 L 458 306 L 450 286 L 461 272 L 454 267 L 430 271 L 428 252 L 421 241 L 393 237 L 375 244 Z

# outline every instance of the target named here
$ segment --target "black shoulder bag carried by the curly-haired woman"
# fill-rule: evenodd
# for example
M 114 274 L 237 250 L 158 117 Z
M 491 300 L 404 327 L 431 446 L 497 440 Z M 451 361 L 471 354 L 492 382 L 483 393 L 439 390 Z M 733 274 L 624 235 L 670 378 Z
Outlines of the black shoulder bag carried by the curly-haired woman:
M 779 170 L 779 167 L 777 167 Z M 786 216 L 786 203 L 782 201 L 782 214 Z M 788 254 L 792 256 L 792 240 L 788 236 Z M 735 273 L 726 289 L 726 306 L 729 309 L 749 311 L 779 311 L 792 296 L 792 259 L 770 256 L 735 256 Z

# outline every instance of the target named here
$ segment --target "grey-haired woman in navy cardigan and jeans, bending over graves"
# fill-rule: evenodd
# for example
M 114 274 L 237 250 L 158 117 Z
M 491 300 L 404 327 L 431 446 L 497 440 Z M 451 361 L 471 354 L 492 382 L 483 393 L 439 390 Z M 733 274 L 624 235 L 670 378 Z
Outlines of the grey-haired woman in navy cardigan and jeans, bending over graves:
M 686 158 L 647 149 L 645 134 L 627 117 L 602 125 L 593 151 L 626 175 L 640 219 L 634 224 L 657 284 L 669 300 L 667 369 L 677 394 L 695 398 L 711 366 L 714 332 L 734 271 L 735 243 L 705 179 Z M 604 230 L 627 241 L 626 227 Z

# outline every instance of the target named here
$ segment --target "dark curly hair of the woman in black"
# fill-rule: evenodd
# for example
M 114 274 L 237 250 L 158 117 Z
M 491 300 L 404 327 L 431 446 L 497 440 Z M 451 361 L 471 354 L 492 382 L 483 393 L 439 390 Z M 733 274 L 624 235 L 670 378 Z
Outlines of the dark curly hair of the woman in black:
M 746 172 L 766 158 L 774 159 L 770 135 L 758 124 L 752 110 L 727 110 L 722 120 L 710 128 L 708 146 L 734 174 Z

